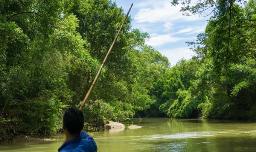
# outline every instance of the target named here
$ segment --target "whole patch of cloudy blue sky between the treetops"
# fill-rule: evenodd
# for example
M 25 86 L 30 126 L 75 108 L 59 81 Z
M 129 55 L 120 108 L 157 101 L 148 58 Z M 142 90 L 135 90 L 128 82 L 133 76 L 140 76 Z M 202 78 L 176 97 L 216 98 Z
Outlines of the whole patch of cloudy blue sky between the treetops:
M 132 28 L 149 33 L 146 44 L 166 56 L 172 66 L 181 58 L 191 58 L 194 52 L 185 42 L 196 40 L 204 32 L 209 17 L 182 16 L 181 5 L 171 6 L 171 0 L 116 0 L 125 13 L 132 3 Z

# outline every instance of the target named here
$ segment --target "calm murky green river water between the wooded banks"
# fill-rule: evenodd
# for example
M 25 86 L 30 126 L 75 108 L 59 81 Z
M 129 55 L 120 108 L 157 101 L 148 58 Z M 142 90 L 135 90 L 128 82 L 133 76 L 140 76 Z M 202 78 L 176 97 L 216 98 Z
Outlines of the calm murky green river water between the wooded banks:
M 93 133 L 98 152 L 256 152 L 256 122 L 142 118 L 123 130 Z M 143 128 L 129 129 L 129 125 Z M 0 144 L 1 152 L 56 152 L 64 134 L 51 142 Z

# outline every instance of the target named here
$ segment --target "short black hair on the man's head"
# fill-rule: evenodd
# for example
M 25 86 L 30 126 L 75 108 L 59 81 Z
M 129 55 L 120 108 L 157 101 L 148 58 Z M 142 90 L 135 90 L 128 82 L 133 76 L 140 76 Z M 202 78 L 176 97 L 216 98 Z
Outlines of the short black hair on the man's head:
M 80 134 L 80 131 L 84 128 L 84 115 L 77 108 L 69 108 L 65 110 L 63 124 L 70 134 Z

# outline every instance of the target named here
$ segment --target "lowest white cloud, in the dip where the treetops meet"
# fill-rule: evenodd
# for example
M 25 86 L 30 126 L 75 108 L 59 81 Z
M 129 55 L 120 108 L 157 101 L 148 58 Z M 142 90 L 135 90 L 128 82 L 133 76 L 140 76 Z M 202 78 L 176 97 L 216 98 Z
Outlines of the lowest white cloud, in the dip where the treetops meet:
M 171 65 L 175 65 L 181 58 L 190 59 L 195 53 L 190 51 L 189 47 L 180 47 L 175 49 L 158 50 L 162 55 L 168 58 Z

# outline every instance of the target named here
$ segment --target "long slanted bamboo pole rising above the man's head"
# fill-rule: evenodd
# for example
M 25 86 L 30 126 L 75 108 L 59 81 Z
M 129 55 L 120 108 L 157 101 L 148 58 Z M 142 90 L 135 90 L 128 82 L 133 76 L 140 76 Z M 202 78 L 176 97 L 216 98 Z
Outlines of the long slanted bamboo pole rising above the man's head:
M 133 6 L 133 4 L 131 4 L 131 7 L 132 7 L 132 6 Z M 115 44 L 115 42 L 116 42 L 116 39 L 117 39 L 117 37 L 118 37 L 118 35 L 119 35 L 119 33 L 120 33 L 122 27 L 123 27 L 123 24 L 124 24 L 125 21 L 126 21 L 126 18 L 128 17 L 128 15 L 129 15 L 129 13 L 130 13 L 131 7 L 130 7 L 128 13 L 127 13 L 126 16 L 125 16 L 125 19 L 123 20 L 123 23 L 122 23 L 121 27 L 119 28 L 119 31 L 117 32 L 116 37 L 115 37 L 115 39 L 114 39 L 112 45 L 110 46 L 110 48 L 109 48 L 109 50 L 108 50 L 108 53 L 107 53 L 106 57 L 104 58 L 103 63 L 101 64 L 101 67 L 99 68 L 99 71 L 98 71 L 96 77 L 95 77 L 94 80 L 93 80 L 93 83 L 91 84 L 90 89 L 88 90 L 87 94 L 85 95 L 84 100 L 83 100 L 83 102 L 82 102 L 82 104 L 81 104 L 79 110 L 82 110 L 82 109 L 83 109 L 84 104 L 86 103 L 86 101 L 87 101 L 87 99 L 88 99 L 88 97 L 89 97 L 89 95 L 90 95 L 90 93 L 91 93 L 91 90 L 93 89 L 93 87 L 94 87 L 94 85 L 95 85 L 95 83 L 96 83 L 96 81 L 97 81 L 99 75 L 101 74 L 101 70 L 102 70 L 102 68 L 103 68 L 103 66 L 104 66 L 104 64 L 105 64 L 105 62 L 107 61 L 108 55 L 110 54 L 110 52 L 111 52 L 111 50 L 112 50 L 112 48 L 113 48 L 113 46 L 114 46 L 114 44 Z

